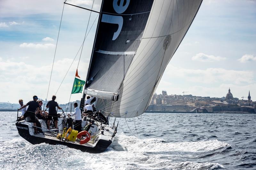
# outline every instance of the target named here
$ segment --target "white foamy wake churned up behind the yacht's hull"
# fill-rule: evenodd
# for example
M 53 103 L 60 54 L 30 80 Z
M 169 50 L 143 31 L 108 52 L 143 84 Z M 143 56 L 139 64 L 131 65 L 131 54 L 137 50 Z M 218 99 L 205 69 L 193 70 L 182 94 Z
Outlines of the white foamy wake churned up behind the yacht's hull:
M 208 152 L 230 147 L 218 140 L 171 143 L 119 133 L 106 152 L 91 154 L 64 145 L 31 145 L 21 138 L 2 141 L 1 168 L 5 169 L 222 169 L 219 163 L 193 162 Z M 45 162 L 48 162 L 47 164 Z M 20 166 L 22 165 L 22 166 Z

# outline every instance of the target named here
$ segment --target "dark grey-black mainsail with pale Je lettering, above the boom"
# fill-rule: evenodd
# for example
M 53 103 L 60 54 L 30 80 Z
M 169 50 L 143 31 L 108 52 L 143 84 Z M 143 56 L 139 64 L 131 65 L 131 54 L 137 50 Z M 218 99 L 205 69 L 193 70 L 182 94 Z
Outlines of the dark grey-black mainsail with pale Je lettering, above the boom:
M 103 1 L 86 89 L 117 94 L 140 44 L 152 3 Z

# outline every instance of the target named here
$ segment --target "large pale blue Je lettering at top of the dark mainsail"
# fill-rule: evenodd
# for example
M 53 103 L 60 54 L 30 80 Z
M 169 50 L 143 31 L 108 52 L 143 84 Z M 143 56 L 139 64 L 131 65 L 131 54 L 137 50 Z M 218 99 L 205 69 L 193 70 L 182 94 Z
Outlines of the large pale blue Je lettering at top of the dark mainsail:
M 130 0 L 126 0 L 126 3 L 124 4 L 124 0 L 119 0 L 120 3 L 118 4 L 118 0 L 113 0 L 113 8 L 118 14 L 122 14 L 129 6 Z M 112 40 L 116 40 L 119 36 L 124 19 L 122 16 L 116 16 L 116 15 L 108 15 L 108 14 L 102 14 L 101 22 L 110 23 L 110 24 L 117 24 L 118 29 L 116 32 L 114 32 Z

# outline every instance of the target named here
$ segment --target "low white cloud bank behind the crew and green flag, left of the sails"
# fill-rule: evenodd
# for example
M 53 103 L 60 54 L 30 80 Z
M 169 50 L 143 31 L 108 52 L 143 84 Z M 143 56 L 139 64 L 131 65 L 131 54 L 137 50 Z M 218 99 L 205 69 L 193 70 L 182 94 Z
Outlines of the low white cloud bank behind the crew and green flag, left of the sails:
M 40 66 L 40 62 L 30 65 L 26 62 L 17 62 L 4 59 L 1 60 L 3 60 L 0 63 L 1 101 L 18 103 L 19 98 L 22 98 L 27 102 L 31 100 L 33 95 L 37 95 L 43 99 L 46 97 L 52 63 Z M 48 99 L 51 98 L 51 95 L 56 93 L 56 90 L 60 86 L 60 82 L 64 78 L 64 75 L 68 71 L 72 61 L 73 59 L 65 58 L 54 62 Z M 68 103 L 72 84 L 75 78 L 77 63 L 78 60 L 75 60 L 57 93 L 57 102 L 59 103 Z M 78 74 L 83 80 L 85 79 L 83 75 L 86 75 L 87 68 L 88 63 L 80 61 Z M 12 90 L 10 91 L 9 89 Z M 80 99 L 81 96 L 81 94 L 72 95 L 71 101 Z

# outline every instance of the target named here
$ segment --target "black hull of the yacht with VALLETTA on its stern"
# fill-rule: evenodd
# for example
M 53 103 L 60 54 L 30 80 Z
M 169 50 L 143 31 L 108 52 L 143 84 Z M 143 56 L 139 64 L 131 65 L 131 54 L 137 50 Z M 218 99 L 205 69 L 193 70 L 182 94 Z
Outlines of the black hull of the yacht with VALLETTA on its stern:
M 46 143 L 50 145 L 66 145 L 70 148 L 78 149 L 83 152 L 101 153 L 101 152 L 104 152 L 108 148 L 108 146 L 112 143 L 112 141 L 110 140 L 107 141 L 107 140 L 100 139 L 95 147 L 88 147 L 88 146 L 64 142 L 60 140 L 32 136 L 29 134 L 28 125 L 20 124 L 18 122 L 16 123 L 16 127 L 18 129 L 20 136 L 26 139 L 28 142 L 30 142 L 33 145 L 40 144 L 40 143 Z

